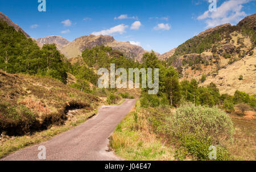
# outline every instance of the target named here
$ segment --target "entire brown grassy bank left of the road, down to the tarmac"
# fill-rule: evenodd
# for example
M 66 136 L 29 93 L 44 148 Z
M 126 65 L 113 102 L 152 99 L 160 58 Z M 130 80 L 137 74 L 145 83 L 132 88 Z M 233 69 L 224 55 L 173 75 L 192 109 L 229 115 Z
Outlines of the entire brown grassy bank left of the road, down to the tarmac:
M 56 79 L 5 72 L 0 97 L 0 158 L 84 123 L 103 103 Z

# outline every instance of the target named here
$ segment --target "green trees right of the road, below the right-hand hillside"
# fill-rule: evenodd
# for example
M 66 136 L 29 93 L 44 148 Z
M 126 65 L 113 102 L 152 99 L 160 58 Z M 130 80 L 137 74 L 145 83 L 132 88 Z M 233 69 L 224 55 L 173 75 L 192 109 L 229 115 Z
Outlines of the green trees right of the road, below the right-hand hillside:
M 199 86 L 196 79 L 191 81 L 184 80 L 179 82 L 179 73 L 172 66 L 167 67 L 162 61 L 158 60 L 154 52 L 146 53 L 143 56 L 143 68 L 159 68 L 159 93 L 155 95 L 147 95 L 147 90 L 143 89 L 144 99 L 142 102 L 149 106 L 158 106 L 159 104 L 170 104 L 171 106 L 179 106 L 185 102 L 192 102 L 195 105 L 213 107 L 223 106 L 226 110 L 232 110 L 235 104 L 245 103 L 251 107 L 256 107 L 256 95 L 249 95 L 241 91 L 231 96 L 228 94 L 220 94 L 219 89 L 214 83 L 210 83 L 207 87 Z M 205 81 L 205 78 L 201 82 Z M 148 103 L 145 103 L 148 101 Z

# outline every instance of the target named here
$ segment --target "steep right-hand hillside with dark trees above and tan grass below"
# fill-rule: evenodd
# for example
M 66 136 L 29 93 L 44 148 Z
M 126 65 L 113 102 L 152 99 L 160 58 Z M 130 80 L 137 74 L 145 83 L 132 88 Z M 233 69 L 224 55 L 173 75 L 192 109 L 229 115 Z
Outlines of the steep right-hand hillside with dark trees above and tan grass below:
M 177 68 L 180 79 L 196 78 L 202 85 L 216 83 L 221 93 L 236 90 L 255 93 L 256 14 L 237 26 L 223 24 L 210 28 L 181 44 L 167 60 Z M 237 76 L 238 75 L 238 76 Z M 243 75 L 243 80 L 239 80 Z

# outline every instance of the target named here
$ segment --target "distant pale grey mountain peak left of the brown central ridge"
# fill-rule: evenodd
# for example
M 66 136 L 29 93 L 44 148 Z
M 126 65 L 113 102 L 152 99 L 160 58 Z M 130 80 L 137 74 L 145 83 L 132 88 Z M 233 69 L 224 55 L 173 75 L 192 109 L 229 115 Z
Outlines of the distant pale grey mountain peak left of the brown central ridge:
M 43 47 L 44 44 L 56 44 L 57 49 L 62 49 L 65 45 L 69 44 L 69 41 L 61 36 L 47 36 L 36 39 L 39 47 Z

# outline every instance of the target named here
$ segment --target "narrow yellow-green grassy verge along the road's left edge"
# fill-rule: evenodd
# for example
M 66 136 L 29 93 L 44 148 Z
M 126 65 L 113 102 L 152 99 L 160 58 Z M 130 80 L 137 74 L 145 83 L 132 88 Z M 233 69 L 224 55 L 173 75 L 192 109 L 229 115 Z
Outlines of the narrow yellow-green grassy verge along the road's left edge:
M 0 158 L 7 156 L 17 150 L 26 148 L 40 142 L 47 141 L 53 136 L 66 132 L 69 129 L 76 127 L 90 119 L 93 115 L 97 114 L 97 110 L 92 112 L 86 112 L 85 110 L 77 110 L 73 118 L 69 119 L 64 125 L 52 127 L 46 131 L 36 132 L 31 136 L 18 136 L 18 137 L 6 137 L 0 140 Z

